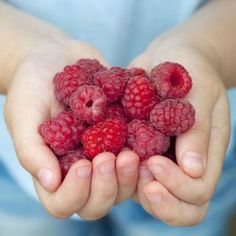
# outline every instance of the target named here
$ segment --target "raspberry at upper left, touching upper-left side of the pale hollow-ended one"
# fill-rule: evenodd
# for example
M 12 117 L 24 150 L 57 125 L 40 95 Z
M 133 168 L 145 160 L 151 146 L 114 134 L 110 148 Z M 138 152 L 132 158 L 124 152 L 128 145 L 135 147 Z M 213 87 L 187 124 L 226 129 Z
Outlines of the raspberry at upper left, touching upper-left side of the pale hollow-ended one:
M 71 95 L 79 86 L 90 84 L 90 76 L 81 66 L 69 65 L 54 76 L 53 83 L 57 99 L 68 105 Z

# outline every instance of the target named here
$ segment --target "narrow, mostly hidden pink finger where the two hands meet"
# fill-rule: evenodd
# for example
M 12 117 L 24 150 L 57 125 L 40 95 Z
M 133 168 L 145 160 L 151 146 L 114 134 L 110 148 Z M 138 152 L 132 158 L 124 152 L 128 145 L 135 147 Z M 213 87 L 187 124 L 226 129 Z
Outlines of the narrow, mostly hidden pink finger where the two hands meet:
M 142 161 L 139 166 L 139 180 L 137 185 L 137 197 L 140 204 L 147 212 L 151 212 L 150 205 L 146 201 L 143 188 L 146 184 L 153 181 L 153 175 L 147 167 L 147 161 Z

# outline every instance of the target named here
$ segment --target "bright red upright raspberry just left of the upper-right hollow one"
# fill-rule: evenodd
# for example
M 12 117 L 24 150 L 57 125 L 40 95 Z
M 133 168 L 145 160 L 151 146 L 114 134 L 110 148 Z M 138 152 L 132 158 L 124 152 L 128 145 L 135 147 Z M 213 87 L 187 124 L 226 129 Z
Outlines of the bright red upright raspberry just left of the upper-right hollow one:
M 155 88 L 142 76 L 129 80 L 121 100 L 126 115 L 130 119 L 147 119 L 154 105 L 159 102 Z

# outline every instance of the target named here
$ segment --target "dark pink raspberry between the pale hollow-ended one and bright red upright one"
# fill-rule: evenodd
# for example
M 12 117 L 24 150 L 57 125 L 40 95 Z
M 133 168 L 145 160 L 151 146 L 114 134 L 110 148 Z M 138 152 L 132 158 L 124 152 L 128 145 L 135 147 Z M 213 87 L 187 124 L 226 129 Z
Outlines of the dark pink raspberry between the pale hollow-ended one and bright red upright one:
M 100 86 L 106 94 L 108 102 L 115 102 L 124 95 L 130 72 L 120 67 L 98 72 L 94 75 L 94 84 Z

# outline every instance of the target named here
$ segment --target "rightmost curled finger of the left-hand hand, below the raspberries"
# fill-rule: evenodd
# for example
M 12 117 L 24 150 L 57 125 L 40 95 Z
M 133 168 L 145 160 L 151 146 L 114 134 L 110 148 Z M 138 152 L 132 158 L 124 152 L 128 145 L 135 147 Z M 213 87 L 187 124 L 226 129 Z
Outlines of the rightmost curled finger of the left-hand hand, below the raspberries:
M 116 159 L 118 196 L 116 204 L 131 197 L 138 180 L 139 157 L 132 151 L 122 151 Z

